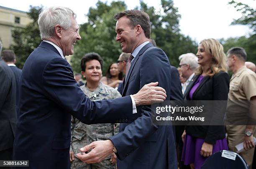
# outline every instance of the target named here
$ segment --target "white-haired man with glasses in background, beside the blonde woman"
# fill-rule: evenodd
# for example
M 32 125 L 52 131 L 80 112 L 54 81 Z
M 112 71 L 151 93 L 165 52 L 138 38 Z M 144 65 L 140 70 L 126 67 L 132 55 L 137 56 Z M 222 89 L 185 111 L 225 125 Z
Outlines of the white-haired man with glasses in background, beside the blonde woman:
M 186 53 L 179 56 L 179 67 L 182 72 L 182 77 L 186 79 L 186 82 L 182 86 L 182 94 L 184 95 L 189 85 L 189 82 L 195 75 L 195 70 L 198 66 L 197 64 L 197 57 L 193 53 Z

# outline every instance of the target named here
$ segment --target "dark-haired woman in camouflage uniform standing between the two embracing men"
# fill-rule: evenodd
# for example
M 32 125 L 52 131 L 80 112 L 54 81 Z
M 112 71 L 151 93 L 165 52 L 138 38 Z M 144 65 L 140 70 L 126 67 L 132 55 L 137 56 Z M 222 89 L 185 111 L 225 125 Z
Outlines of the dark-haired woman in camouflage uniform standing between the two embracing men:
M 115 99 L 121 97 L 113 87 L 100 82 L 102 76 L 103 61 L 97 53 L 87 53 L 81 60 L 82 75 L 86 83 L 80 88 L 92 101 Z M 70 146 L 71 169 L 115 169 L 116 156 L 113 153 L 100 163 L 86 164 L 74 154 L 80 152 L 80 148 L 97 140 L 106 140 L 118 132 L 117 124 L 92 124 L 86 125 L 72 117 L 72 139 Z

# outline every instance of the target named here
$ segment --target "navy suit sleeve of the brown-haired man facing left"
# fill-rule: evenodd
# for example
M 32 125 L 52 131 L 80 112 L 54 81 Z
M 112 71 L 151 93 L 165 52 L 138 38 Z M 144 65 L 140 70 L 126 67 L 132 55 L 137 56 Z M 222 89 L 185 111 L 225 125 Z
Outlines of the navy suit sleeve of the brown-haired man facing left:
M 167 87 L 169 74 L 170 65 L 165 53 L 158 48 L 146 51 L 141 61 L 140 88 L 150 82 L 158 81 L 160 87 L 169 89 Z M 154 115 L 151 113 L 151 107 L 143 106 L 141 112 L 141 117 L 126 126 L 124 131 L 110 138 L 120 160 L 125 159 L 141 146 L 158 129 L 152 122 Z

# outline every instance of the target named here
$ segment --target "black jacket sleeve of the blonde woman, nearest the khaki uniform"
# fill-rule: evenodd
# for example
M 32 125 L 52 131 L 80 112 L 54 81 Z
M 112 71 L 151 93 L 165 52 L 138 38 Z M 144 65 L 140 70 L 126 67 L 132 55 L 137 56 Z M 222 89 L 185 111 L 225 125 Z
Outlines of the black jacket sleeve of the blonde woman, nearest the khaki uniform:
M 213 115 L 212 123 L 216 124 L 216 121 L 223 120 L 225 115 L 226 100 L 228 100 L 229 91 L 229 76 L 226 72 L 220 72 L 213 77 Z M 219 100 L 223 100 L 218 102 Z M 225 130 L 224 126 L 210 125 L 207 130 L 205 142 L 209 144 L 215 144 L 218 136 Z

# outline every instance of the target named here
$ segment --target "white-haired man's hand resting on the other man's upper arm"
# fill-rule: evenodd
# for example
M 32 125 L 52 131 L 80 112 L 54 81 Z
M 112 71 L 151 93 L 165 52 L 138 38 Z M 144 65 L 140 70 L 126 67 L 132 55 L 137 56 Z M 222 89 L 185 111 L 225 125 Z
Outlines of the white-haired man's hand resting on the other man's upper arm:
M 158 82 L 149 83 L 144 85 L 138 93 L 133 94 L 136 106 L 164 102 L 167 97 L 166 91 L 156 85 L 158 85 Z

